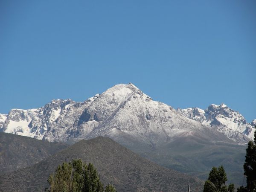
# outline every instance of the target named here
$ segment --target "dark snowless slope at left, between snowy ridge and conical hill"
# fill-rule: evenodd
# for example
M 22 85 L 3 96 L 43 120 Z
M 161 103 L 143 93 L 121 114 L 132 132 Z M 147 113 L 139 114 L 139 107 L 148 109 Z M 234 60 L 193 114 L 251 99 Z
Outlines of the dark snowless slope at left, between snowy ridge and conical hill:
M 38 163 L 67 146 L 0 132 L 0 175 Z

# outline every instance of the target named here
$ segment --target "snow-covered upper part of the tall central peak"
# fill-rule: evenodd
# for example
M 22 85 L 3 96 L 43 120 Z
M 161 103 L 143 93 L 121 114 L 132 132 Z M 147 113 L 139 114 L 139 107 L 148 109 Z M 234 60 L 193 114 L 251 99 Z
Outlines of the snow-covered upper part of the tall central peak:
M 120 134 L 128 134 L 154 145 L 174 135 L 184 132 L 189 134 L 187 128 L 181 128 L 182 120 L 191 122 L 170 106 L 153 101 L 134 84 L 118 84 L 97 95 L 87 108 L 84 108 L 76 126 L 65 128 L 65 131 L 58 132 L 57 135 L 52 133 L 59 131 L 59 127 L 52 126 L 44 139 L 53 141 L 57 136 L 59 140 L 68 140 L 99 135 L 114 138 Z M 202 128 L 197 122 L 189 125 L 189 128 L 192 127 Z

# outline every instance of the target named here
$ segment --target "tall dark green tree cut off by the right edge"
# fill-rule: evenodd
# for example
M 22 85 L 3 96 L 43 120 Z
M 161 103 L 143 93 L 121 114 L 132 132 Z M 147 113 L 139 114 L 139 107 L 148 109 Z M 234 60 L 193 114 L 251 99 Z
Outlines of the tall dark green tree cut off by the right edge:
M 254 132 L 254 142 L 249 141 L 246 149 L 244 175 L 246 176 L 247 186 L 241 186 L 237 191 L 256 192 L 256 131 Z

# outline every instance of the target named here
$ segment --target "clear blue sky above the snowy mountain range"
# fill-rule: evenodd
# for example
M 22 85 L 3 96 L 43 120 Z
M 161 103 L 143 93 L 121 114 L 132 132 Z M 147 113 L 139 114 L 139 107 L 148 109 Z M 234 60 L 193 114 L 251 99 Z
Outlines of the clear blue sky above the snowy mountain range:
M 0 113 L 129 82 L 256 119 L 256 1 L 0 1 Z

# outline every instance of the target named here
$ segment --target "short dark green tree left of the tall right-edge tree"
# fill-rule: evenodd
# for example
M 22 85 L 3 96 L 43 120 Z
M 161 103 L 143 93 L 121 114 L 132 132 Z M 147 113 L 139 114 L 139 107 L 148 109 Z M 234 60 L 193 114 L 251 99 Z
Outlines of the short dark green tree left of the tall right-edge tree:
M 234 185 L 225 186 L 227 175 L 223 166 L 212 167 L 208 179 L 204 183 L 204 192 L 234 192 Z

